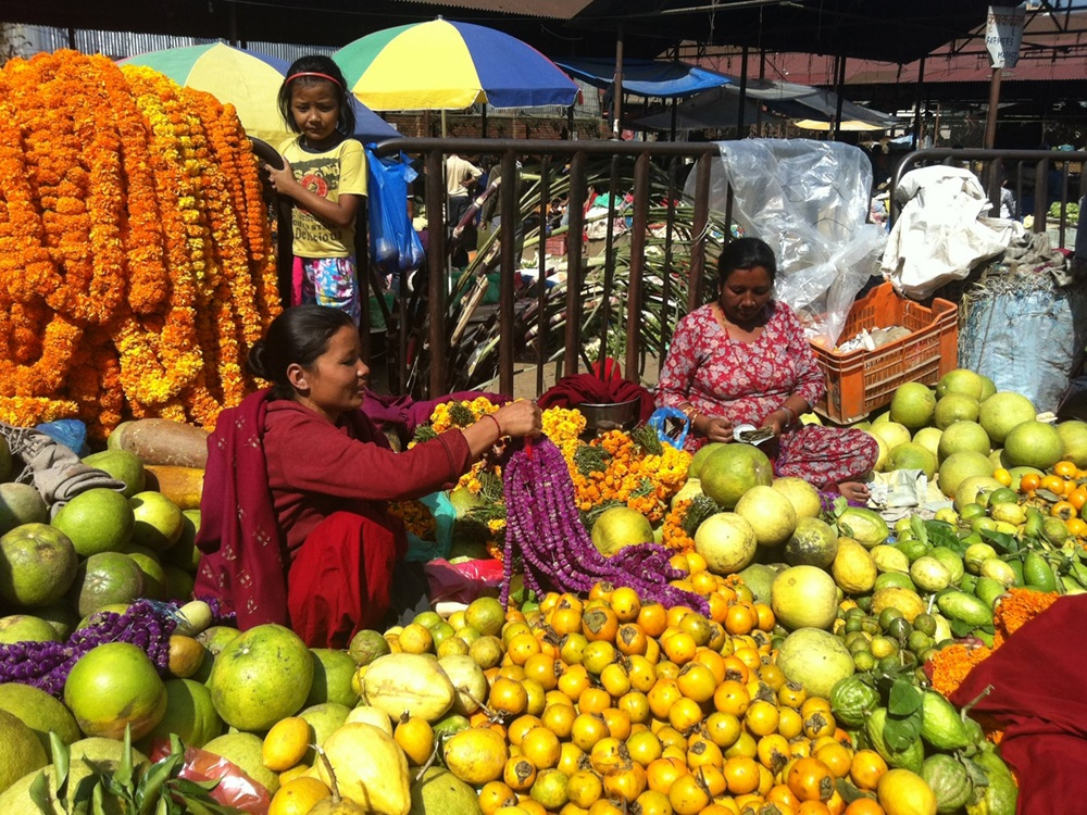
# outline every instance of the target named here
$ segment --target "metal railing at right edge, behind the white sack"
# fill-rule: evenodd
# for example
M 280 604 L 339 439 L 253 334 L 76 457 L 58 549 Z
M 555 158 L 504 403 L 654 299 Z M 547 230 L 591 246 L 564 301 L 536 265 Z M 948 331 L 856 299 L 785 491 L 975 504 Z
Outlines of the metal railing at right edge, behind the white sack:
M 1033 200 L 1032 229 L 1035 233 L 1047 231 L 1047 228 L 1051 228 L 1050 222 L 1057 221 L 1057 246 L 1065 247 L 1069 233 L 1067 205 L 1078 204 L 1087 192 L 1087 179 L 1082 172 L 1085 161 L 1087 152 L 1066 150 L 917 150 L 907 155 L 895 172 L 888 208 L 890 223 L 894 225 L 902 209 L 895 196 L 902 176 L 916 167 L 951 164 L 969 167 L 978 177 L 989 197 L 990 214 L 994 216 L 1000 212 L 1000 187 L 1001 181 L 1007 178 L 1020 210 L 1013 214 L 1022 216 L 1024 200 Z M 1057 218 L 1048 217 L 1053 203 L 1060 203 Z

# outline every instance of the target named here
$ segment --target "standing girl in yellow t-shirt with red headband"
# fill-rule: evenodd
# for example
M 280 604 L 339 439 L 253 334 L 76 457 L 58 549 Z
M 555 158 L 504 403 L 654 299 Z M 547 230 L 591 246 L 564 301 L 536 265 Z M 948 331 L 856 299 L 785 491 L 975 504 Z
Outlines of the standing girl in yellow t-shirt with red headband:
M 366 195 L 366 159 L 351 138 L 354 111 L 339 67 L 302 57 L 279 88 L 279 112 L 298 134 L 279 147 L 284 168 L 268 167 L 276 192 L 295 202 L 292 303 L 318 303 L 359 323 L 361 298 L 354 222 Z

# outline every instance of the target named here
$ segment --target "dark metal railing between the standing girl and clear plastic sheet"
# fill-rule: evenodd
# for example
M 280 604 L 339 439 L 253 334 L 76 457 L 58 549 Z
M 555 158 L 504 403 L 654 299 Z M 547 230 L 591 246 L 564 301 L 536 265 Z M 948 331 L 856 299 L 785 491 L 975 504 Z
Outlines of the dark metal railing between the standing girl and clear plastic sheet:
M 577 373 L 579 359 L 588 362 L 583 350 L 585 338 L 580 336 L 582 322 L 576 318 L 582 314 L 586 303 L 583 302 L 583 275 L 585 272 L 586 248 L 583 244 L 583 233 L 586 226 L 585 211 L 589 201 L 587 184 L 587 166 L 592 162 L 598 168 L 603 162 L 608 165 L 607 189 L 609 208 L 607 237 L 603 247 L 603 288 L 600 293 L 602 302 L 613 298 L 616 267 L 616 243 L 613 237 L 612 224 L 615 218 L 626 218 L 629 224 L 629 261 L 624 268 L 623 290 L 625 291 L 625 326 L 611 326 L 604 319 L 601 327 L 600 361 L 607 355 L 609 331 L 625 330 L 625 367 L 627 378 L 637 379 L 637 372 L 645 364 L 645 349 L 639 344 L 639 322 L 642 319 L 642 291 L 645 284 L 645 250 L 647 233 L 650 226 L 649 212 L 651 204 L 655 208 L 654 223 L 659 224 L 659 208 L 661 201 L 651 201 L 650 175 L 655 170 L 658 177 L 661 172 L 667 174 L 667 191 L 663 203 L 666 205 L 664 217 L 664 274 L 663 286 L 665 300 L 673 275 L 686 276 L 687 308 L 700 304 L 702 297 L 702 279 L 705 269 L 707 226 L 709 224 L 709 187 L 710 164 L 720 155 L 720 149 L 712 143 L 654 143 L 625 141 L 558 141 L 558 140 L 514 140 L 514 139 L 393 139 L 377 146 L 379 155 L 390 155 L 404 152 L 411 156 L 420 156 L 424 167 L 425 206 L 427 217 L 427 262 L 425 269 L 425 293 L 412 292 L 400 281 L 401 288 L 393 305 L 386 316 L 395 326 L 388 337 L 387 353 L 392 356 L 389 365 L 390 389 L 410 390 L 416 393 L 440 394 L 448 392 L 453 383 L 451 377 L 450 341 L 461 336 L 458 319 L 454 331 L 450 331 L 450 312 L 447 298 L 450 291 L 449 242 L 455 241 L 455 233 L 445 223 L 446 185 L 443 181 L 445 160 L 451 153 L 461 155 L 498 156 L 503 179 L 517 178 L 518 173 L 530 173 L 538 176 L 538 212 L 533 213 L 539 223 L 537 265 L 538 275 L 535 287 L 535 367 L 537 396 L 546 390 L 545 367 L 555 353 L 546 350 L 549 343 L 558 339 L 549 335 L 550 324 L 545 308 L 548 286 L 546 285 L 546 229 L 548 222 L 548 205 L 554 190 L 566 193 L 570 236 L 566 247 L 566 279 L 564 291 L 564 323 L 561 339 L 561 373 L 570 375 Z M 686 206 L 694 208 L 692 225 L 689 231 L 676 230 L 675 212 L 683 196 L 683 184 L 678 175 L 687 170 L 686 164 L 692 162 L 690 174 L 694 177 L 694 195 L 686 199 Z M 655 167 L 653 166 L 655 165 Z M 437 179 L 433 183 L 432 179 Z M 499 197 L 497 214 L 501 224 L 521 223 L 525 215 L 521 201 L 517 199 L 516 184 L 502 184 L 497 189 Z M 493 190 L 492 190 L 493 192 Z M 628 205 L 621 205 L 626 193 L 633 193 Z M 535 199 L 534 199 L 535 200 Z M 671 264 L 672 252 L 677 239 L 690 237 L 689 262 L 685 267 Z M 677 237 L 678 236 L 678 237 Z M 500 260 L 498 262 L 498 390 L 513 393 L 514 376 L 518 348 L 516 347 L 515 319 L 518 318 L 518 308 L 524 309 L 524 297 L 517 296 L 515 276 L 521 265 L 523 236 L 518 230 L 500 229 Z M 624 258 L 626 249 L 624 248 Z M 361 255 L 360 255 L 361 256 Z M 360 264 L 360 272 L 362 266 Z M 375 296 L 380 297 L 379 278 L 370 275 Z M 486 285 L 486 284 L 485 284 Z M 393 285 L 396 288 L 396 285 Z M 384 301 L 383 306 L 384 306 Z M 476 302 L 470 302 L 468 309 L 475 309 Z M 552 304 L 553 308 L 553 304 Z M 363 309 L 362 336 L 364 342 L 370 333 L 367 310 Z M 425 331 L 422 326 L 425 324 Z M 667 331 L 667 326 L 662 327 Z M 462 340 L 463 341 L 463 338 Z M 368 348 L 364 349 L 368 352 Z M 425 376 L 413 371 L 413 364 L 418 359 L 425 360 Z M 522 353 L 521 362 L 525 362 Z M 454 363 L 455 364 L 455 363 Z M 591 364 L 591 363 L 590 363 Z M 558 371 L 557 371 L 558 376 Z

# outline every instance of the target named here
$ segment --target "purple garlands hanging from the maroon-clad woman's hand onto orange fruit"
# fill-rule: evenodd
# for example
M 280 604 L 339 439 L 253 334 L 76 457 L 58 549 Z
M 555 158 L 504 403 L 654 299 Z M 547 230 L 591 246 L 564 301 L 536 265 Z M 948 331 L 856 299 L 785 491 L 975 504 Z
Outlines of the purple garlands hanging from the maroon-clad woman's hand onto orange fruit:
M 545 590 L 587 592 L 594 584 L 628 586 L 645 600 L 666 607 L 686 605 L 709 613 L 704 598 L 669 585 L 684 573 L 669 563 L 658 543 L 626 547 L 604 557 L 592 546 L 575 509 L 574 482 L 562 451 L 547 437 L 532 453 L 513 453 L 504 469 L 505 547 L 501 600 L 509 602 L 514 557 L 520 556 L 525 586 Z

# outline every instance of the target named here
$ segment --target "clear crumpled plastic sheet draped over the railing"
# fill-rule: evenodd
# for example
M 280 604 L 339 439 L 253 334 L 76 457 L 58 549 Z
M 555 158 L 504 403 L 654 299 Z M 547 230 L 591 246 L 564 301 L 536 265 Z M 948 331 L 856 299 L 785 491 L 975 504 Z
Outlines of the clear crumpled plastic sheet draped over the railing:
M 857 292 L 876 271 L 886 234 L 865 223 L 872 165 L 851 145 L 810 139 L 722 141 L 710 208 L 733 217 L 777 255 L 775 297 L 796 310 L 809 338 L 834 348 Z M 694 174 L 692 174 L 694 176 Z M 687 193 L 692 193 L 694 177 Z

